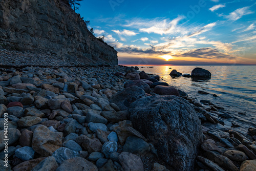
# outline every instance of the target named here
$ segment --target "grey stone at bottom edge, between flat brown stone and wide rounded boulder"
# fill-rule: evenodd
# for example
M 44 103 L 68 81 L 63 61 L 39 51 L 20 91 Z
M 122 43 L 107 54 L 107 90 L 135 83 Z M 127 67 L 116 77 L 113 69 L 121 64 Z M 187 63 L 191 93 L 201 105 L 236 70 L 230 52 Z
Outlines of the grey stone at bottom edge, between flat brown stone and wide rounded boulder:
M 46 159 L 38 163 L 31 171 L 52 171 L 56 170 L 58 164 L 53 156 L 49 156 Z

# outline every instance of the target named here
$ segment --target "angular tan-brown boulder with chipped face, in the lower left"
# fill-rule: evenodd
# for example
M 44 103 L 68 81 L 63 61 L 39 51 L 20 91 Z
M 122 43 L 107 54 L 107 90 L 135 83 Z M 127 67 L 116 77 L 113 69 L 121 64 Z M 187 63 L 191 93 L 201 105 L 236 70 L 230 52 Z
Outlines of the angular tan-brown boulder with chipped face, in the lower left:
M 61 147 L 62 133 L 52 132 L 44 125 L 37 126 L 33 133 L 32 148 L 41 156 L 51 156 Z

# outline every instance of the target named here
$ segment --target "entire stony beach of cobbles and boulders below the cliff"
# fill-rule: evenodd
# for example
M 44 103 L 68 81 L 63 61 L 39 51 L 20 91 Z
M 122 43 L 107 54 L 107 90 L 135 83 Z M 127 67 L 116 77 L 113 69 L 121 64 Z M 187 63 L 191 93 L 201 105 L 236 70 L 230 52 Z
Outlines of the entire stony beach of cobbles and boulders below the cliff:
M 255 170 L 256 129 L 233 131 L 223 108 L 138 70 L 0 68 L 1 169 Z

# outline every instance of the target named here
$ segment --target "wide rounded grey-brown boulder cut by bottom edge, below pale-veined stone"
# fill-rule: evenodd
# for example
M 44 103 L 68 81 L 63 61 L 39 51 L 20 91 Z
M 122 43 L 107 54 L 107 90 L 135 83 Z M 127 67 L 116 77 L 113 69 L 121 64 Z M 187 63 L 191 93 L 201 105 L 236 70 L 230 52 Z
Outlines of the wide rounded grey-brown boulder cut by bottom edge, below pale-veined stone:
M 98 171 L 98 168 L 88 160 L 76 157 L 63 161 L 56 171 Z

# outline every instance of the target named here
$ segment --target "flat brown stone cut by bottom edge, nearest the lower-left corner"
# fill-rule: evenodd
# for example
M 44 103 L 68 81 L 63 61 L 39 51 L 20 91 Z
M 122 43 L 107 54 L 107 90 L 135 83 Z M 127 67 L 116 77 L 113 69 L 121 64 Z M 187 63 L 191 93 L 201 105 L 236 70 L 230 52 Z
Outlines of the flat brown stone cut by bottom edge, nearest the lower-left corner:
M 22 162 L 15 167 L 12 168 L 13 171 L 25 171 L 25 170 L 32 170 L 38 163 L 40 163 L 42 160 L 44 160 L 46 157 L 41 157 L 33 160 L 28 160 L 25 162 Z

